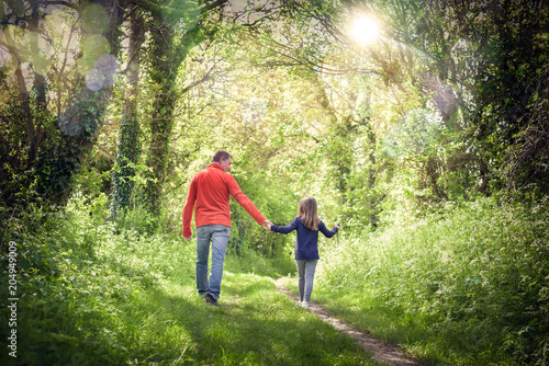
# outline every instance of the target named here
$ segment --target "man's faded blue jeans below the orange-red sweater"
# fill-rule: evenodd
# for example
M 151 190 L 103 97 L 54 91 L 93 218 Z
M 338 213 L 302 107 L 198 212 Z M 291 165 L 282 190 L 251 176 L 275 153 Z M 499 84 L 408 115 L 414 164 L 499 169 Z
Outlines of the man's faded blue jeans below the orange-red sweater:
M 227 253 L 231 228 L 224 225 L 205 225 L 197 228 L 197 289 L 200 295 L 212 294 L 220 298 L 223 262 Z M 212 268 L 208 281 L 208 260 L 212 243 Z

